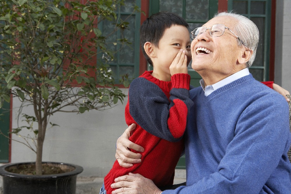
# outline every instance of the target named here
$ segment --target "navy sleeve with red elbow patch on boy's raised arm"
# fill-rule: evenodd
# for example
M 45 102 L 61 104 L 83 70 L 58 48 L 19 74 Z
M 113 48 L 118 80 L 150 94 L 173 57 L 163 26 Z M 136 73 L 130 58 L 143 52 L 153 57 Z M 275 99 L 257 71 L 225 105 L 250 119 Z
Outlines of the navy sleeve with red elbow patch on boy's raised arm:
M 136 123 L 147 132 L 162 139 L 176 142 L 182 138 L 185 129 L 182 129 L 182 135 L 178 135 L 179 137 L 173 135 L 175 131 L 173 132 L 173 129 L 168 127 L 168 124 L 173 125 L 169 121 L 171 120 L 170 110 L 173 106 L 177 106 L 178 112 L 181 111 L 180 117 L 186 119 L 193 102 L 189 98 L 189 90 L 187 89 L 172 88 L 170 95 L 169 101 L 162 89 L 156 84 L 142 77 L 136 78 L 129 87 L 129 112 Z M 186 113 L 182 114 L 185 109 Z M 175 127 L 183 128 L 183 126 L 179 126 L 179 122 Z

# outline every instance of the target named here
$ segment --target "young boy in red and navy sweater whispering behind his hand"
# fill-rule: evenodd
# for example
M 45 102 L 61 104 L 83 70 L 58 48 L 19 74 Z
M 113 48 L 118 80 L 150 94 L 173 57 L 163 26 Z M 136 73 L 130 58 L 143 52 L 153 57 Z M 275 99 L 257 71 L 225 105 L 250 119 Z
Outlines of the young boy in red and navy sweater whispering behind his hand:
M 188 27 L 182 17 L 170 12 L 154 14 L 141 25 L 141 48 L 153 71 L 145 71 L 130 84 L 125 120 L 128 125 L 136 124 L 130 140 L 144 147 L 143 162 L 123 168 L 115 161 L 100 193 L 111 193 L 114 179 L 129 172 L 139 173 L 157 186 L 173 184 L 184 148 L 187 114 L 193 105 L 187 74 L 191 60 Z

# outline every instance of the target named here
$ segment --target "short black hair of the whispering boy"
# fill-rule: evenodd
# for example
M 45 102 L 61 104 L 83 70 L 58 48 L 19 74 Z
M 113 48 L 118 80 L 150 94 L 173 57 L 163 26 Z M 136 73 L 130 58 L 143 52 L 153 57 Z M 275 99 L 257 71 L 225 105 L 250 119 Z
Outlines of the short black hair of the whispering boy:
M 150 42 L 156 47 L 158 47 L 159 40 L 162 38 L 164 31 L 170 28 L 172 25 L 185 26 L 186 28 L 189 27 L 186 20 L 184 20 L 179 15 L 168 11 L 163 11 L 151 15 L 141 25 L 140 28 L 141 50 L 149 64 L 152 65 L 152 60 L 150 60 L 150 57 L 145 53 L 143 45 L 146 42 Z

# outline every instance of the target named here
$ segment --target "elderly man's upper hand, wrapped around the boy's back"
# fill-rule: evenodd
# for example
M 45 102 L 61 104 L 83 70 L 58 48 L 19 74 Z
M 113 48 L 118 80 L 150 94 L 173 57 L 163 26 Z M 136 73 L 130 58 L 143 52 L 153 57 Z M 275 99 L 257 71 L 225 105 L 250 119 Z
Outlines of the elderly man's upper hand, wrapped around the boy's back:
M 129 148 L 139 152 L 144 151 L 143 147 L 129 141 L 129 137 L 135 128 L 136 124 L 131 124 L 116 142 L 115 158 L 119 165 L 125 168 L 132 167 L 133 163 L 141 163 L 141 154 L 129 151 Z

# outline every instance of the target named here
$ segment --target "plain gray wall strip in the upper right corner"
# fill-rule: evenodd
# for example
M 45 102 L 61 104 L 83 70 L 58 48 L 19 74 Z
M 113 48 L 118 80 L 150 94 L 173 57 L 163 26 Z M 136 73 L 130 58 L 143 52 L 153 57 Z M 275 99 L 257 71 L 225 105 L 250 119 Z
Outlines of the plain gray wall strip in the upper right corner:
M 276 1 L 274 82 L 291 92 L 291 1 Z

